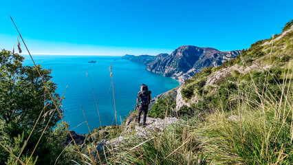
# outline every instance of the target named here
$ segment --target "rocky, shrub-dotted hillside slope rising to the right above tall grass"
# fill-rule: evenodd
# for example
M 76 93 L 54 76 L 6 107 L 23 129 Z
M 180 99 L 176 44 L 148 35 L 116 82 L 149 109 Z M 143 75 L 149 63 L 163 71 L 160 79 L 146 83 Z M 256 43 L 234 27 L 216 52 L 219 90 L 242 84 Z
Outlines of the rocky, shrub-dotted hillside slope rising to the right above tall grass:
M 244 85 L 243 83 L 248 81 L 250 76 L 253 77 L 253 74 L 259 76 L 264 71 L 280 74 L 280 69 L 287 66 L 288 63 L 292 63 L 292 58 L 293 27 L 290 26 L 290 28 L 271 39 L 253 43 L 248 50 L 241 52 L 241 56 L 226 61 L 219 67 L 206 67 L 190 80 L 186 80 L 186 83 L 178 90 L 184 101 L 190 103 L 186 105 L 191 107 L 191 104 L 197 102 L 211 101 L 215 94 L 221 92 L 224 85 L 228 85 L 226 89 L 229 88 L 229 85 L 234 87 L 235 85 L 232 85 L 232 82 L 236 83 L 238 80 L 240 81 L 239 85 Z M 207 106 L 206 108 L 210 107 Z

